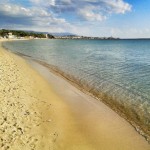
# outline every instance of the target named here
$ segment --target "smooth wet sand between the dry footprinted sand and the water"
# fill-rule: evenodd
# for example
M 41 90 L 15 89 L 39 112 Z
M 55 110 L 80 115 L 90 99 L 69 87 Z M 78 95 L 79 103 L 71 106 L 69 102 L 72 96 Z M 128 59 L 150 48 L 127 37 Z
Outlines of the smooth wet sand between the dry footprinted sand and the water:
M 32 65 L 53 86 L 54 92 L 71 108 L 75 124 L 91 143 L 91 149 L 135 150 L 150 149 L 147 141 L 125 119 L 102 102 L 78 90 L 49 68 L 31 59 Z M 66 126 L 70 126 L 66 122 Z M 70 131 L 72 134 L 72 132 Z M 89 148 L 90 149 L 90 148 Z

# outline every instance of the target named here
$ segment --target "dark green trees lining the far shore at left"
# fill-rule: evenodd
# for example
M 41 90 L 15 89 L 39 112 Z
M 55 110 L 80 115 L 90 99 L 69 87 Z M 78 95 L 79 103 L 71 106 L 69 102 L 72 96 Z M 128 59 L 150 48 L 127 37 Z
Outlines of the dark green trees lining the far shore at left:
M 13 35 L 15 35 L 17 38 L 20 37 L 46 38 L 46 34 L 44 33 L 28 32 L 28 31 L 21 31 L 21 30 L 6 30 L 6 29 L 0 30 L 0 36 L 8 37 L 8 33 L 10 32 Z M 54 38 L 54 36 L 51 34 L 47 34 L 47 37 L 51 39 Z

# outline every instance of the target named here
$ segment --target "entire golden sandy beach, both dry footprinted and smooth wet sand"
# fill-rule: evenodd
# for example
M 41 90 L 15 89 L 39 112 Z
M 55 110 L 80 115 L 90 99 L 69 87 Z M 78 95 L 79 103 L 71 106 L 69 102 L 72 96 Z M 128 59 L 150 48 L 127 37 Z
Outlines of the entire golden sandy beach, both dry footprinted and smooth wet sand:
M 0 149 L 149 150 L 116 112 L 0 45 Z

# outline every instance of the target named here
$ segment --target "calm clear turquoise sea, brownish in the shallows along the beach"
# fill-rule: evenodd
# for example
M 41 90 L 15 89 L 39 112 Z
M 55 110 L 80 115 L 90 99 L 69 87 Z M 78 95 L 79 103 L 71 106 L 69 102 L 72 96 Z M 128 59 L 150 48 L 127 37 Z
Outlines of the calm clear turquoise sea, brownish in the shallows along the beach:
M 3 45 L 50 64 L 150 135 L 150 40 L 30 40 Z

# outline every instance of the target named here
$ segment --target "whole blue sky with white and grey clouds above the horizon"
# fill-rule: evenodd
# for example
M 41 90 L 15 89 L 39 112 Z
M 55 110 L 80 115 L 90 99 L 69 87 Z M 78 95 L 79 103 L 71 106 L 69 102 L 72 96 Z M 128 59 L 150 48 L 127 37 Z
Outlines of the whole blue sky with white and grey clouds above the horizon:
M 150 0 L 0 0 L 0 28 L 150 38 Z

